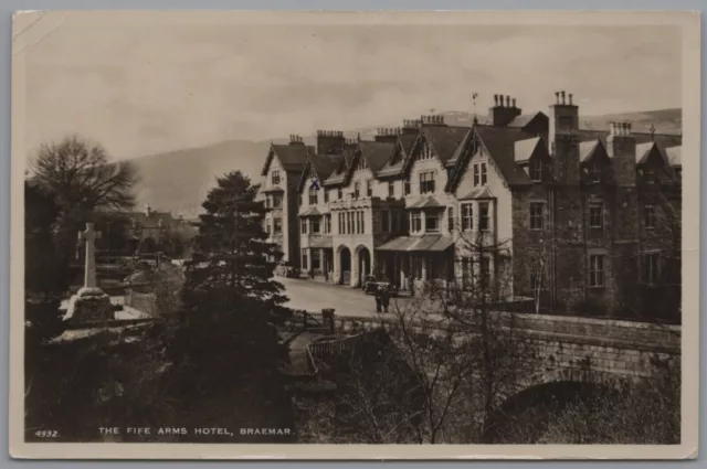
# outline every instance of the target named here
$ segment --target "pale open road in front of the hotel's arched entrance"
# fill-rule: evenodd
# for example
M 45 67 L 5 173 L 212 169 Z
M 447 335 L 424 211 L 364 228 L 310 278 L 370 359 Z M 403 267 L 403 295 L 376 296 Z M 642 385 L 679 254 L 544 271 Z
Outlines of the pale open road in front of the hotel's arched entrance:
M 275 277 L 275 279 L 285 286 L 285 294 L 289 297 L 286 306 L 289 308 L 307 311 L 334 308 L 337 316 L 371 317 L 376 315 L 376 299 L 372 295 L 366 295 L 360 288 L 298 278 Z M 391 303 L 393 300 L 391 299 Z

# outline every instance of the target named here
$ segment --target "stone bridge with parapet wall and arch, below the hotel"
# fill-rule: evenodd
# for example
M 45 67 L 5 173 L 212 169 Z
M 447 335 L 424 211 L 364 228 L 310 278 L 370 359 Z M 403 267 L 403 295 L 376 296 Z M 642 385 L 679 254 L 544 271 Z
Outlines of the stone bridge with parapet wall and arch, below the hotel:
M 621 387 L 680 370 L 680 327 L 611 319 L 495 312 L 514 322 L 517 340 L 531 341 L 538 360 L 515 390 L 499 395 L 497 405 L 524 391 L 553 383 Z M 308 347 L 309 362 L 351 349 L 366 331 L 386 327 L 392 318 L 335 317 L 321 321 L 329 333 L 344 337 Z M 386 317 L 382 317 L 386 318 Z M 327 318 L 328 319 L 328 318 Z

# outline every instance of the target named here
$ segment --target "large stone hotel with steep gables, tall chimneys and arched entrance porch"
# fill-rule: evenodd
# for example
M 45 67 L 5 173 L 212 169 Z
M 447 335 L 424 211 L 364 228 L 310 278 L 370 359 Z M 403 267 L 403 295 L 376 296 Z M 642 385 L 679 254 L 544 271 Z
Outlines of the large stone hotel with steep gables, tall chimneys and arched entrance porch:
M 261 196 L 284 259 L 312 278 L 401 289 L 465 286 L 479 273 L 504 299 L 552 305 L 679 305 L 679 135 L 612 122 L 580 128 L 572 95 L 523 115 L 496 95 L 488 116 L 319 130 L 272 145 Z

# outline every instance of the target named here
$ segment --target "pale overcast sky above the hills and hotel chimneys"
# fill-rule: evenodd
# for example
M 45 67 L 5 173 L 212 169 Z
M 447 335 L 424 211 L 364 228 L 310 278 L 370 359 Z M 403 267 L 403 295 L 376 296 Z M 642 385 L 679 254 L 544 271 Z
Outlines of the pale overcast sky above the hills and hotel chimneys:
M 546 110 L 558 89 L 574 94 L 582 115 L 680 106 L 680 36 L 669 26 L 96 18 L 53 13 L 21 28 L 28 149 L 77 132 L 128 158 L 391 125 L 472 110 L 474 92 L 479 111 L 495 93 Z

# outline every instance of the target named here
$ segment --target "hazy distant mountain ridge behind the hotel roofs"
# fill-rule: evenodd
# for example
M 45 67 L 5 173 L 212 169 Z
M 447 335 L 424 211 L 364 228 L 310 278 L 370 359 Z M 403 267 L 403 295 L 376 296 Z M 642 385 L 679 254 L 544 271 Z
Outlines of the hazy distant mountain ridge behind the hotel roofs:
M 441 113 L 445 122 L 452 126 L 468 126 L 469 113 Z M 527 113 L 524 113 L 527 114 Z M 411 117 L 411 118 L 414 118 Z M 402 119 L 401 119 L 402 120 Z M 634 131 L 648 132 L 653 125 L 658 134 L 682 131 L 680 109 L 647 110 L 642 113 L 612 114 L 603 116 L 581 116 L 580 127 L 585 129 L 608 129 L 612 120 L 630 120 Z M 397 127 L 399 122 L 388 122 L 376 127 L 363 127 L 345 131 L 349 138 L 360 135 L 372 139 L 378 127 Z M 314 136 L 304 137 L 313 145 Z M 275 139 L 275 142 L 286 141 Z M 165 153 L 136 158 L 133 161 L 140 174 L 137 199 L 140 204 L 149 203 L 154 209 L 196 217 L 207 192 L 215 183 L 215 178 L 229 171 L 241 170 L 254 182 L 261 181 L 261 169 L 265 162 L 270 141 L 229 140 L 200 148 L 189 148 Z

